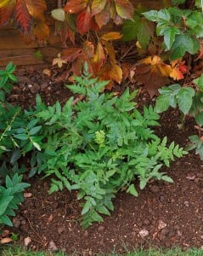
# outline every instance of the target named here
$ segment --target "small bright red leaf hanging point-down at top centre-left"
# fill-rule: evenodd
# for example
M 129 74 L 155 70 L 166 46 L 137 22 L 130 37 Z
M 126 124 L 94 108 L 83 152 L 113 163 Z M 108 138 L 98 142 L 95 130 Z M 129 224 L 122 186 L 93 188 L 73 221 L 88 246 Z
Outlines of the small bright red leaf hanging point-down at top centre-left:
M 91 10 L 89 7 L 87 7 L 86 10 L 82 11 L 82 13 L 77 16 L 76 27 L 78 29 L 78 32 L 80 32 L 81 34 L 85 34 L 89 31 L 91 27 L 91 18 Z

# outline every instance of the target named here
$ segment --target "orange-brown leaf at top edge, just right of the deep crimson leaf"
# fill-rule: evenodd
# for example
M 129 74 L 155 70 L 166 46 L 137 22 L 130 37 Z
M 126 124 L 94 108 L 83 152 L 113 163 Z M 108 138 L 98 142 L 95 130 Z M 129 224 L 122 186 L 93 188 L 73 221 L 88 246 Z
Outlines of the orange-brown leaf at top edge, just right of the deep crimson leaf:
M 30 15 L 37 20 L 44 21 L 44 12 L 47 9 L 45 0 L 25 0 Z

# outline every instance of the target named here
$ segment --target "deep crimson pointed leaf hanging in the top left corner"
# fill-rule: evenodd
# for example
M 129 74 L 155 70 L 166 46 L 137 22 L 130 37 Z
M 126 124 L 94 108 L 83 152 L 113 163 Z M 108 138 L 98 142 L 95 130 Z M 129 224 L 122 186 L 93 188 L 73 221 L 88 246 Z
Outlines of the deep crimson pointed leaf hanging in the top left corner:
M 14 10 L 14 19 L 24 32 L 29 32 L 32 26 L 32 17 L 29 14 L 24 0 L 17 0 Z

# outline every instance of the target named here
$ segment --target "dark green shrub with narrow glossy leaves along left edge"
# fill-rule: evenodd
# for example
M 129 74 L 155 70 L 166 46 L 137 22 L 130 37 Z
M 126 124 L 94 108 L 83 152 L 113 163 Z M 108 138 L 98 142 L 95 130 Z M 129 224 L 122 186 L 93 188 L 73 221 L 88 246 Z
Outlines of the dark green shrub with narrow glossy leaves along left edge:
M 6 101 L 11 83 L 17 81 L 14 69 L 9 63 L 5 70 L 0 70 L 0 223 L 8 225 L 12 225 L 9 217 L 14 216 L 14 210 L 23 201 L 23 190 L 29 187 L 20 175 L 25 166 L 19 166 L 17 161 L 34 147 L 40 149 L 36 134 L 41 129 L 36 119 L 30 120 L 19 107 Z

